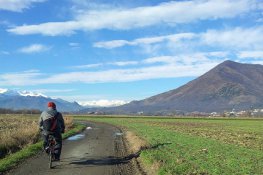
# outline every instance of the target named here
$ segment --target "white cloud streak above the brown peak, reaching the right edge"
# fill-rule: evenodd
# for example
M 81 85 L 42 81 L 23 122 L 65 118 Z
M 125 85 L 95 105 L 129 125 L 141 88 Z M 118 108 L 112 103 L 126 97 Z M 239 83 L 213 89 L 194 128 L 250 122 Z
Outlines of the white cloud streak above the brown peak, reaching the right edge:
M 164 47 L 167 47 L 172 51 L 184 50 L 181 47 L 187 49 L 187 51 L 191 49 L 197 50 L 199 47 L 202 46 L 216 47 L 217 49 L 223 48 L 224 50 L 257 50 L 263 49 L 262 43 L 263 26 L 256 26 L 250 28 L 236 27 L 224 30 L 208 30 L 203 33 L 177 33 L 173 35 L 137 38 L 131 41 L 112 40 L 96 42 L 93 44 L 93 46 L 106 49 L 122 47 L 125 45 L 142 46 L 145 50 L 150 49 L 150 53 L 152 53 L 152 49 L 158 50 L 163 49 Z M 153 45 L 153 48 L 151 47 L 151 45 Z M 180 49 L 176 50 L 176 48 Z M 226 53 L 213 52 L 213 54 L 215 55 Z M 221 56 L 224 57 L 225 55 Z

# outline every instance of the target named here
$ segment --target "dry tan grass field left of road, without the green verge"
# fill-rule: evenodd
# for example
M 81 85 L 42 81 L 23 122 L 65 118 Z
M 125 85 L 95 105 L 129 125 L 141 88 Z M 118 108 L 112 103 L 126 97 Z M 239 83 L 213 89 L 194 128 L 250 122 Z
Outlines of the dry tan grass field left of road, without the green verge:
M 40 139 L 39 116 L 0 116 L 0 158 Z M 73 119 L 64 117 L 66 130 L 73 127 Z

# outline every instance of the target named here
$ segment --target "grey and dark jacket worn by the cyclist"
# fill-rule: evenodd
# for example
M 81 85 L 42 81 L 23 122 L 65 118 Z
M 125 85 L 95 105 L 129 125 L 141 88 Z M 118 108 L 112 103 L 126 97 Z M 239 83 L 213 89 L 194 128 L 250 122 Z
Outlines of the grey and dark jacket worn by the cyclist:
M 46 125 L 53 117 L 55 117 L 57 121 L 56 121 L 56 127 L 52 132 L 56 134 L 64 133 L 65 123 L 62 114 L 58 112 L 56 109 L 48 108 L 46 111 L 43 111 L 41 113 L 39 118 L 39 128 L 42 130 L 42 134 L 48 135 L 52 133 L 47 129 Z

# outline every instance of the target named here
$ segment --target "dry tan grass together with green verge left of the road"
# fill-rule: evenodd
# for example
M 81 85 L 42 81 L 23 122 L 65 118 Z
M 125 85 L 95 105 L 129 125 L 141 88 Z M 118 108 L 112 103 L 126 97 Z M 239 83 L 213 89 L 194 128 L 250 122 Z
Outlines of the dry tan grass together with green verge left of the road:
M 0 174 L 42 149 L 38 117 L 39 115 L 0 116 Z M 64 121 L 66 132 L 63 139 L 85 128 L 85 125 L 73 124 L 72 117 L 64 117 Z

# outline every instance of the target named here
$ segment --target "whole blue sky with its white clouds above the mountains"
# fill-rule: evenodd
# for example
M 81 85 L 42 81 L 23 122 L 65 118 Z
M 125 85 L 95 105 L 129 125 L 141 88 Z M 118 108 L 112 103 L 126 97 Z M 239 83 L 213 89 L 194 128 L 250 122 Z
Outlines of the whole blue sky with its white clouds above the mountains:
M 0 0 L 0 88 L 107 105 L 224 60 L 263 64 L 261 0 Z

